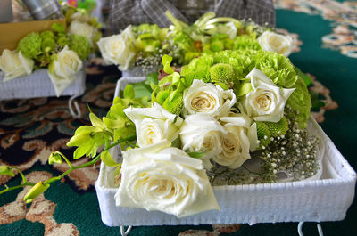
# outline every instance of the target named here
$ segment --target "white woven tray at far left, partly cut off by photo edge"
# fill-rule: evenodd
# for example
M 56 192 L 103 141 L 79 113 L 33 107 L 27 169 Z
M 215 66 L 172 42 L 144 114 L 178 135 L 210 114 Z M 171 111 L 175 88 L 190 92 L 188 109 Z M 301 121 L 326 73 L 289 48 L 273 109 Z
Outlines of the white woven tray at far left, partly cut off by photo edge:
M 0 74 L 0 101 L 56 96 L 47 69 L 37 69 L 28 77 L 17 77 L 7 82 L 3 80 L 4 76 Z M 62 92 L 61 96 L 81 95 L 85 90 L 86 72 L 82 69 L 78 72 L 77 79 Z

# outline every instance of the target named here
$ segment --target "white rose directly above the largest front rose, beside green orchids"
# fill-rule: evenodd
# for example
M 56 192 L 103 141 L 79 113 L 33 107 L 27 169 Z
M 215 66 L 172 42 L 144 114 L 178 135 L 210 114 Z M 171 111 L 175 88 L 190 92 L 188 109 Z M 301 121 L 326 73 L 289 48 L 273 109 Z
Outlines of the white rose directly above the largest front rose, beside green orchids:
M 164 110 L 156 102 L 151 108 L 129 107 L 124 112 L 135 124 L 139 147 L 162 142 L 164 139 L 172 142 L 179 137 L 182 118 Z

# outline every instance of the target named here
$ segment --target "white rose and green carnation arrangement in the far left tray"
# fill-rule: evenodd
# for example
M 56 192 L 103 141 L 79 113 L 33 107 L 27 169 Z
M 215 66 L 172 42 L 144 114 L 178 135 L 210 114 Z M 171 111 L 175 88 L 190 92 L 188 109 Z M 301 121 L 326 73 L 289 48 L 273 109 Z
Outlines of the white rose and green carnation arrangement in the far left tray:
M 29 76 L 35 69 L 48 69 L 57 96 L 71 85 L 102 34 L 100 24 L 87 12 L 69 6 L 63 12 L 68 27 L 54 23 L 52 30 L 21 38 L 16 50 L 4 50 L 0 56 L 4 82 Z

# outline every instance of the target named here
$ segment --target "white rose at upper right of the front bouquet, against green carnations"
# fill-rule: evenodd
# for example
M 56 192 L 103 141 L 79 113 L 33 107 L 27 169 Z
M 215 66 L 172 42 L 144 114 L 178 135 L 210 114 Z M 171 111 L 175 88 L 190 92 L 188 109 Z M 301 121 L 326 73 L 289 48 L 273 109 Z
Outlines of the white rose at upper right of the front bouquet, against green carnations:
M 243 101 L 245 113 L 256 121 L 278 122 L 284 116 L 286 100 L 295 88 L 279 88 L 256 68 L 246 78 L 251 79 L 253 91 L 245 95 Z

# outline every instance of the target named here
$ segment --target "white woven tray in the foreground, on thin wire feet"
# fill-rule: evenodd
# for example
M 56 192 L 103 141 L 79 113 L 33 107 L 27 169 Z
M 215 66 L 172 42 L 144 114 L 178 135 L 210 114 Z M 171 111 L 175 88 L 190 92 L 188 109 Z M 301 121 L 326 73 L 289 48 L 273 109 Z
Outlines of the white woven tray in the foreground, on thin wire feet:
M 143 78 L 124 78 L 117 84 L 123 87 Z M 162 224 L 237 224 L 302 221 L 338 221 L 345 218 L 354 197 L 356 173 L 313 118 L 308 129 L 320 137 L 323 157 L 319 180 L 286 183 L 215 186 L 214 195 L 219 211 L 177 218 L 162 212 L 115 206 L 113 169 L 101 165 L 95 189 L 102 221 L 108 226 Z M 117 150 L 113 155 L 118 156 Z M 115 153 L 116 152 L 116 153 Z

